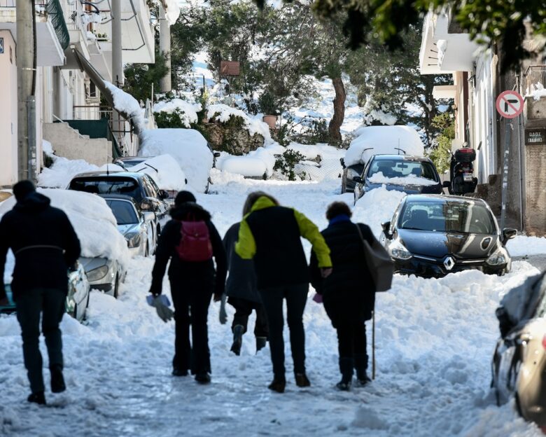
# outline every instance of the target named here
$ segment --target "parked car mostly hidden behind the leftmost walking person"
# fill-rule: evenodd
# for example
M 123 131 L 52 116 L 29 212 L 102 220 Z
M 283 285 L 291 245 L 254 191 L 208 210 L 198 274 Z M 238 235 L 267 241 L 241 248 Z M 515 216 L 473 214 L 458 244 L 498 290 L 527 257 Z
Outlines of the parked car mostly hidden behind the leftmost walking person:
M 78 321 L 83 321 L 85 319 L 85 311 L 89 306 L 90 286 L 85 275 L 85 270 L 80 263 L 76 263 L 76 268 L 69 272 L 68 284 L 68 294 L 66 294 L 66 301 L 64 303 L 66 313 Z M 8 295 L 9 304 L 3 307 L 0 306 L 0 312 L 15 312 L 15 303 L 13 303 L 10 284 L 6 284 L 6 294 Z

